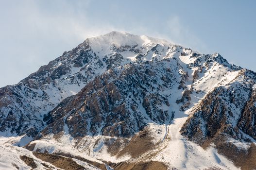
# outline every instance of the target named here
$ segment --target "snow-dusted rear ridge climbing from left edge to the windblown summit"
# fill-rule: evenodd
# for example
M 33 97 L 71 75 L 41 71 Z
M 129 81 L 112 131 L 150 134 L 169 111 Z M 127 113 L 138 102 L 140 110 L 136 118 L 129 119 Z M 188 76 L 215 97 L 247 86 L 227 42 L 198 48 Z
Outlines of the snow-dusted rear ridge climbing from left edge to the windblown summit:
M 34 137 L 44 127 L 43 116 L 59 102 L 78 93 L 109 68 L 133 63 L 140 55 L 149 58 L 139 59 L 150 60 L 158 55 L 154 49 L 167 48 L 165 44 L 163 40 L 118 32 L 86 39 L 17 85 L 0 89 L 2 135 L 26 133 Z

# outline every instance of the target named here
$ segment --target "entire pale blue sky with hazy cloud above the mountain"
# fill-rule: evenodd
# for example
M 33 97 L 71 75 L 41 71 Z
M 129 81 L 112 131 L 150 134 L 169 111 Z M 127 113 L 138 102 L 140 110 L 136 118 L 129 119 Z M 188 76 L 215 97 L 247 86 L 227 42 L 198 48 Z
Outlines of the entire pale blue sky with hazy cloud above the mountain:
M 256 0 L 0 0 L 0 87 L 111 31 L 219 52 L 256 71 Z

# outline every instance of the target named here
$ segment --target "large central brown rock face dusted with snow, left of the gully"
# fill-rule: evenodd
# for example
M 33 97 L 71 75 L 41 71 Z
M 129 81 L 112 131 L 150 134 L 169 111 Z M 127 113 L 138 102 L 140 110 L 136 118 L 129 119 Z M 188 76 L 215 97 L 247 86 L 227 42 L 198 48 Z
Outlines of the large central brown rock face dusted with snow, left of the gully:
M 59 133 L 66 124 L 73 137 L 89 134 L 130 137 L 148 122 L 170 122 L 170 109 L 163 109 L 170 106 L 168 94 L 162 93 L 180 79 L 164 71 L 172 69 L 171 60 L 128 64 L 96 77 L 77 95 L 68 98 L 68 102 L 64 100 L 46 115 L 49 125 L 42 134 Z M 62 123 L 56 126 L 56 122 Z

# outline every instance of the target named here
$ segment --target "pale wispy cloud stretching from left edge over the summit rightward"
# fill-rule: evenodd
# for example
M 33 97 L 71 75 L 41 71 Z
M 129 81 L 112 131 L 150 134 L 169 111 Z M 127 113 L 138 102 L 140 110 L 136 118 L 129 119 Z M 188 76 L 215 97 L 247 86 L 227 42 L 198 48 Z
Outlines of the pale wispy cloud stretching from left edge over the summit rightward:
M 0 74 L 0 79 L 5 80 L 0 86 L 17 83 L 87 37 L 113 30 L 145 34 L 193 49 L 204 49 L 204 43 L 177 16 L 158 26 L 153 21 L 150 24 L 141 22 L 128 13 L 119 14 L 119 6 L 110 5 L 108 10 L 115 11 L 116 15 L 95 17 L 91 13 L 91 3 L 91 0 L 0 1 L 0 72 L 10 73 L 8 78 Z

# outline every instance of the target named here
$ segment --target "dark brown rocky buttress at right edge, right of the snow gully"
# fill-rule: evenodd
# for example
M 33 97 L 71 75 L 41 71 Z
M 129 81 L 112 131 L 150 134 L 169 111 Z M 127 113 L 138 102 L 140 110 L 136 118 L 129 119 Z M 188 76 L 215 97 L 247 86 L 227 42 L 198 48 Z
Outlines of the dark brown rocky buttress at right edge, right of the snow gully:
M 181 128 L 181 134 L 203 144 L 218 135 L 245 140 L 254 133 L 255 80 L 252 71 L 241 70 L 229 84 L 216 87 L 198 103 Z

